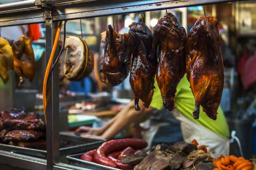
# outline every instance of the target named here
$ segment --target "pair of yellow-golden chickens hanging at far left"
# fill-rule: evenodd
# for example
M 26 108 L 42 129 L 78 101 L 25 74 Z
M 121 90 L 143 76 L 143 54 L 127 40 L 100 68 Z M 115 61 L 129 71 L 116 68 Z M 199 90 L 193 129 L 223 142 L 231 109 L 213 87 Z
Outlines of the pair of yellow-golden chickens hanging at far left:
M 25 35 L 11 43 L 0 37 L 0 77 L 4 84 L 9 81 L 8 71 L 13 69 L 19 76 L 20 87 L 24 85 L 24 78 L 33 82 L 36 73 L 34 51 Z

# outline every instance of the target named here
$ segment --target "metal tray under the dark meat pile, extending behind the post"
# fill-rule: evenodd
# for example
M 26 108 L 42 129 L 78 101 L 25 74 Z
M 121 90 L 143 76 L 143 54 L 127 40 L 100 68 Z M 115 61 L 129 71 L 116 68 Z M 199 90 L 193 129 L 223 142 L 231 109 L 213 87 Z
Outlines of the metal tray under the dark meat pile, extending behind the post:
M 60 141 L 66 142 L 64 144 L 61 144 L 60 142 L 60 156 L 67 156 L 70 154 L 93 150 L 99 147 L 101 143 L 105 142 L 105 140 L 82 138 L 79 136 L 64 134 L 60 134 L 59 138 Z M 12 145 L 5 145 L 2 143 L 0 143 L 0 150 L 46 159 L 46 150 L 23 148 Z

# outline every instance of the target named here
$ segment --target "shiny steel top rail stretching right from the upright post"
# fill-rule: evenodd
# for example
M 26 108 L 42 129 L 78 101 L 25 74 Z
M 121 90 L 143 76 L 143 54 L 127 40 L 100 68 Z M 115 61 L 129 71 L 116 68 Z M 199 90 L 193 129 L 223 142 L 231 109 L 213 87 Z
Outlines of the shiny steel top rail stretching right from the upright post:
M 73 20 L 235 1 L 237 0 L 150 0 L 133 2 L 119 0 L 118 3 L 116 1 L 90 1 L 82 4 L 68 5 L 65 7 L 65 14 L 53 15 L 53 20 Z M 62 7 L 57 6 L 56 9 Z

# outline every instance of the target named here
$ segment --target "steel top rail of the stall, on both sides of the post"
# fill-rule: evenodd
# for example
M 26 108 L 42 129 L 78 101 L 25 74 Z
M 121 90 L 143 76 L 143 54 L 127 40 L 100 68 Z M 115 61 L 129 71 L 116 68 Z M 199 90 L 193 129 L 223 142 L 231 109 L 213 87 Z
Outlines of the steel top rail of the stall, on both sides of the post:
M 130 0 L 76 0 L 67 2 L 65 0 L 61 6 L 51 5 L 53 21 L 60 21 L 235 1 L 241 0 L 137 0 L 132 2 Z M 46 2 L 53 3 L 59 2 L 59 0 L 47 0 Z M 38 7 L 28 8 L 25 13 L 20 12 L 19 8 L 12 10 L 12 13 L 8 13 L 8 15 L 1 14 L 0 11 L 0 27 L 44 22 L 43 10 L 39 9 Z M 59 11 L 62 14 L 59 14 Z

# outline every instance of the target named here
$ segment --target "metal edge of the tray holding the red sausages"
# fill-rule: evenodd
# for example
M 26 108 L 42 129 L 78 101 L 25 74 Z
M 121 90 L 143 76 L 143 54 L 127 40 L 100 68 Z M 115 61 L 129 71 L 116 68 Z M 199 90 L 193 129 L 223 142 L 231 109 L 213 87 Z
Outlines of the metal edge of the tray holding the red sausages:
M 97 148 L 97 147 L 96 147 Z M 94 148 L 94 149 L 96 149 Z M 89 151 L 89 150 L 87 150 Z M 80 159 L 84 153 L 67 156 L 68 164 L 92 170 L 120 170 Z

